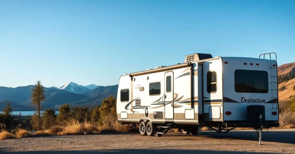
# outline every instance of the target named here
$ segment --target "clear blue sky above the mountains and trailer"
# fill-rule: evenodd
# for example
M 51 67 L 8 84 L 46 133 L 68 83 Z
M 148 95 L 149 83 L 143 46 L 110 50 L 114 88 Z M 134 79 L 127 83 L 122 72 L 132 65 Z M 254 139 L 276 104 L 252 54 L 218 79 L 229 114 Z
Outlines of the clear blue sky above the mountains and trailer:
M 192 53 L 295 62 L 295 1 L 0 0 L 0 86 L 115 85 Z

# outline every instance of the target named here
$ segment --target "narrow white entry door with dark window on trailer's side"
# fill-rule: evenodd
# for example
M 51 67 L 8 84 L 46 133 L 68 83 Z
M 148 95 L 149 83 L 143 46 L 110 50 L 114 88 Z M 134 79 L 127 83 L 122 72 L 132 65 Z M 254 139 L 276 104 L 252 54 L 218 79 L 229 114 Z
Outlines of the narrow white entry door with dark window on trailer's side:
M 164 91 L 164 102 L 165 102 L 165 119 L 173 119 L 174 118 L 174 77 L 173 72 L 169 71 L 165 73 L 165 91 Z

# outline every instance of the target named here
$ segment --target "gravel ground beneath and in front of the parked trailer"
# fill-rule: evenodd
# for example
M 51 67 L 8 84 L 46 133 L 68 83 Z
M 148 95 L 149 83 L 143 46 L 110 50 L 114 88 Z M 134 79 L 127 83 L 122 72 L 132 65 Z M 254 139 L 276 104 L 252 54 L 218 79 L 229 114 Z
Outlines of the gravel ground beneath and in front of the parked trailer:
M 229 133 L 200 131 L 197 136 L 138 133 L 44 136 L 0 141 L 0 153 L 295 153 L 295 129 L 263 131 L 262 143 L 253 130 Z

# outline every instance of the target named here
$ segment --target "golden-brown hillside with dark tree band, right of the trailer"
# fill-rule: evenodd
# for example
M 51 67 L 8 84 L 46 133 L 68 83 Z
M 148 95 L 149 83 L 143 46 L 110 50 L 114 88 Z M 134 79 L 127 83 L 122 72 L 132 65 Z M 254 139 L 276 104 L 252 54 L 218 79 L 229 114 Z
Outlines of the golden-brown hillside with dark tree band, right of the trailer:
M 286 89 L 278 92 L 279 100 L 289 100 L 290 95 L 295 95 L 295 62 L 283 64 L 278 67 L 278 88 L 286 86 Z

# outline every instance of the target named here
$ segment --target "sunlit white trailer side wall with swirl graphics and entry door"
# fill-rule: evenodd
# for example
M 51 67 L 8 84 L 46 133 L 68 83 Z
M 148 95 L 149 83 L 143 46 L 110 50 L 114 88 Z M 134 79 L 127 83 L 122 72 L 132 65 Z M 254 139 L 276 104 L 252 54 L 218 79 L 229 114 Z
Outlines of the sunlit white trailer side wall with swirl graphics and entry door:
M 198 125 L 196 63 L 193 63 L 192 69 L 186 67 L 144 74 L 134 76 L 132 81 L 128 75 L 122 76 L 117 95 L 119 122 L 150 120 L 164 123 L 165 120 L 173 120 L 176 124 Z M 122 102 L 121 94 L 124 95 L 126 89 L 129 90 L 129 98 Z

